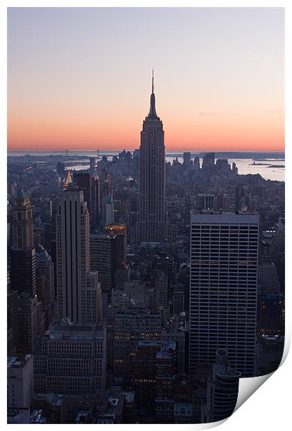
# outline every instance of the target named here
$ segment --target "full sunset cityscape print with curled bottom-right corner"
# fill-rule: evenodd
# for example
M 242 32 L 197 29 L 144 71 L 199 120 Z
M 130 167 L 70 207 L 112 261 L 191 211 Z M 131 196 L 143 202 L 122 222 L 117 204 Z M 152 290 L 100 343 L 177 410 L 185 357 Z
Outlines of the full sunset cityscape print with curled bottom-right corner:
M 284 354 L 279 10 L 15 10 L 7 423 L 218 424 Z

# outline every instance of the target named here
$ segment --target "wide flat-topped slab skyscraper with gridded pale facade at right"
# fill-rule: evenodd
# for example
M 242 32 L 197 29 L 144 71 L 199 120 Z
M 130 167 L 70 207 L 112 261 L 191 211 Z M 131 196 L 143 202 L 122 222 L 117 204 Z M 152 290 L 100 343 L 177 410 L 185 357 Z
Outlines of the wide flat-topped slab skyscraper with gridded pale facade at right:
M 226 349 L 243 377 L 254 373 L 259 215 L 190 216 L 190 374 Z

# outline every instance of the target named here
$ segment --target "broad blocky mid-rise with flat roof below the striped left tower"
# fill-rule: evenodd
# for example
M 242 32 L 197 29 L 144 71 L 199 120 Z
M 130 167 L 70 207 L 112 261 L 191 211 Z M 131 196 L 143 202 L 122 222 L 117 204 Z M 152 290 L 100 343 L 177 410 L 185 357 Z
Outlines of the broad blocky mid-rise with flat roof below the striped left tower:
M 106 386 L 106 328 L 56 320 L 42 338 L 33 367 L 35 391 L 65 394 L 67 423 L 73 422 Z

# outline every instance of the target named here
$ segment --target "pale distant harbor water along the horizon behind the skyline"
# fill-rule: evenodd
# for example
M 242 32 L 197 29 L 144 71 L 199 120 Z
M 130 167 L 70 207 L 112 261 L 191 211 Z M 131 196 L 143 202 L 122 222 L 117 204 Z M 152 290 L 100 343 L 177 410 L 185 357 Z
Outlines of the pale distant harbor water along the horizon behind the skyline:
M 8 156 L 24 156 L 25 154 L 30 154 L 31 156 L 66 156 L 65 151 L 61 152 L 50 152 L 50 151 L 25 151 L 25 152 L 8 152 Z M 111 161 L 113 156 L 119 154 L 119 151 L 99 151 L 99 157 L 108 156 L 108 160 Z M 78 157 L 74 161 L 74 156 Z M 97 151 L 69 151 L 68 158 L 65 162 L 66 169 L 70 170 L 81 170 L 89 168 L 88 158 L 90 156 L 97 157 Z M 81 158 L 84 157 L 84 158 Z M 179 152 L 166 152 L 165 160 L 172 163 L 172 161 L 177 157 L 180 163 L 183 163 L 183 154 Z M 221 158 L 221 157 L 220 157 Z M 222 157 L 225 158 L 225 157 Z M 236 163 L 238 168 L 238 174 L 260 174 L 264 179 L 270 179 L 273 181 L 285 181 L 285 168 L 279 168 L 279 165 L 285 165 L 284 158 L 261 158 L 256 159 L 256 164 L 253 158 L 228 158 L 228 162 L 232 165 L 233 162 Z M 263 164 L 257 164 L 263 163 Z M 200 165 L 202 166 L 202 158 L 200 158 Z M 270 167 L 270 165 L 277 165 L 278 167 Z

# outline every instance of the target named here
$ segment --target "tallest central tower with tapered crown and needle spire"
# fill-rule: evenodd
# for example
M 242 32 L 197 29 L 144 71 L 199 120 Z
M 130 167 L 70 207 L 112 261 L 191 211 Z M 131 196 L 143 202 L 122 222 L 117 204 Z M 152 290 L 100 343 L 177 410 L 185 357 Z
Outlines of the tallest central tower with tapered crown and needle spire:
M 165 146 L 163 124 L 156 114 L 154 72 L 150 111 L 143 121 L 140 136 L 140 202 L 138 242 L 165 241 Z

